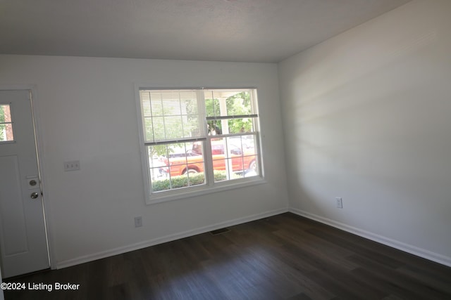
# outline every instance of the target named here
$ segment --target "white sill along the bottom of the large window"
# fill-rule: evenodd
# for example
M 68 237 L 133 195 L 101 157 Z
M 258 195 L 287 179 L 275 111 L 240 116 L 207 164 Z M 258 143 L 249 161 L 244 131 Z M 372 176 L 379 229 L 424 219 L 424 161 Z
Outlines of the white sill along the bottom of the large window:
M 156 204 L 161 202 L 186 199 L 190 197 L 196 197 L 200 195 L 207 195 L 211 193 L 218 193 L 224 190 L 235 190 L 235 188 L 245 188 L 252 185 L 259 185 L 266 183 L 264 178 L 259 176 L 241 179 L 237 182 L 226 181 L 223 183 L 216 183 L 213 186 L 202 185 L 192 188 L 180 188 L 179 190 L 171 190 L 167 192 L 155 193 L 150 195 L 150 199 L 146 200 L 146 204 Z

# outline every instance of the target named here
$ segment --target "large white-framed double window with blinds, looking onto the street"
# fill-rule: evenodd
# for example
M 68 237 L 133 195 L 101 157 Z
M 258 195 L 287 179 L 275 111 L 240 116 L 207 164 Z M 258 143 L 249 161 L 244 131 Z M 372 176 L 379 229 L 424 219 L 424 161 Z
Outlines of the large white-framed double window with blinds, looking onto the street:
M 147 202 L 261 181 L 256 89 L 140 89 Z

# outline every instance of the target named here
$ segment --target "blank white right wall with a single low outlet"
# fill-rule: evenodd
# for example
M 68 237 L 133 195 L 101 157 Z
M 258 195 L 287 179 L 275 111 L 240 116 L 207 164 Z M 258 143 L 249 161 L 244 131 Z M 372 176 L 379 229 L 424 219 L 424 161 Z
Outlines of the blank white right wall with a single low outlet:
M 451 265 L 450 15 L 412 1 L 279 64 L 293 211 Z

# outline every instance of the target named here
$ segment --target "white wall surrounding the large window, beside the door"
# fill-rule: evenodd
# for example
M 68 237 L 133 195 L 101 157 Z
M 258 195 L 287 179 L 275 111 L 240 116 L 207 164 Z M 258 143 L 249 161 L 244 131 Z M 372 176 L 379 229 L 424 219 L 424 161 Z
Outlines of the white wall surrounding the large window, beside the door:
M 0 56 L 0 84 L 35 84 L 53 263 L 68 266 L 288 209 L 275 64 Z M 267 183 L 144 204 L 135 84 L 256 86 Z M 80 171 L 63 162 L 80 159 Z M 143 227 L 134 227 L 142 216 Z

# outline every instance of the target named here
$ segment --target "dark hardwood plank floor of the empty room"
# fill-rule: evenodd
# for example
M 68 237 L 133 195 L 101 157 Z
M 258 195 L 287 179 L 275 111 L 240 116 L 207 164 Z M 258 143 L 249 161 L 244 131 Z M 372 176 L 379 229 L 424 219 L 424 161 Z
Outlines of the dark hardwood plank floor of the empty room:
M 229 229 L 6 280 L 53 290 L 5 299 L 451 299 L 451 268 L 295 214 Z

